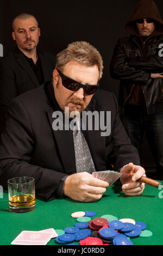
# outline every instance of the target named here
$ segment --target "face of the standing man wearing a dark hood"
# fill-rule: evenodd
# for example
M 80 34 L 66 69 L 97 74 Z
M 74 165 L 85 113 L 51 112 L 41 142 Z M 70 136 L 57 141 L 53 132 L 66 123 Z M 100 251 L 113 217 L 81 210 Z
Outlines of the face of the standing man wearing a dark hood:
M 141 36 L 149 36 L 153 33 L 155 25 L 154 22 L 147 23 L 147 19 L 143 19 L 142 24 L 136 22 L 137 30 Z

